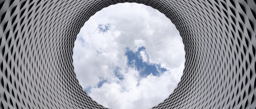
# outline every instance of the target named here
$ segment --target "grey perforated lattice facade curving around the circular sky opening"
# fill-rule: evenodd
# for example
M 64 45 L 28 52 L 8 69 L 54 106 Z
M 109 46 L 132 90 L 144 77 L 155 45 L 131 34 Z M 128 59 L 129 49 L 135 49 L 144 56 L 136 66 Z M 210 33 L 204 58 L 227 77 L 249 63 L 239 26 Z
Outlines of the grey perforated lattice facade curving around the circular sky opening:
M 90 16 L 124 2 L 158 9 L 183 39 L 183 76 L 152 108 L 256 108 L 255 0 L 0 0 L 0 108 L 104 109 L 79 85 L 72 50 Z

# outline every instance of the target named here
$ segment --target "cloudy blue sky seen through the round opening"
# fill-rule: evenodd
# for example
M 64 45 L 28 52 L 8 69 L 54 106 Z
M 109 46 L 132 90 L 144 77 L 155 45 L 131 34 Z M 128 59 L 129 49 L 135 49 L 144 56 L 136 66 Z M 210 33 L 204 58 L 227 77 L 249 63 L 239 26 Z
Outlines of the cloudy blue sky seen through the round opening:
M 185 51 L 175 25 L 137 3 L 111 5 L 94 14 L 73 49 L 76 77 L 93 100 L 110 109 L 148 109 L 180 81 Z

